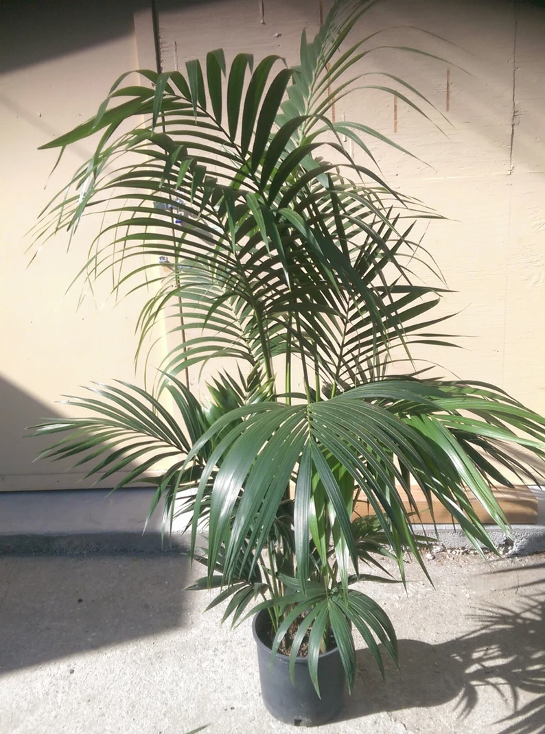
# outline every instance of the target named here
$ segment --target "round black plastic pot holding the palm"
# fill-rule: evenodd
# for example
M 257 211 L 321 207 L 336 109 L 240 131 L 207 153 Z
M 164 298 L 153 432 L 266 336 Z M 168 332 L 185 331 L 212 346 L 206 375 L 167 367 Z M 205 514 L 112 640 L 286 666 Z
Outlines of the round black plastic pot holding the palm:
M 297 658 L 295 677 L 289 677 L 288 655 L 275 655 L 270 664 L 271 622 L 267 609 L 253 618 L 253 639 L 257 644 L 261 697 L 267 711 L 286 724 L 315 727 L 325 724 L 341 711 L 344 704 L 344 668 L 339 650 L 335 648 L 318 658 L 318 683 L 321 698 L 317 696 L 308 672 L 308 658 Z

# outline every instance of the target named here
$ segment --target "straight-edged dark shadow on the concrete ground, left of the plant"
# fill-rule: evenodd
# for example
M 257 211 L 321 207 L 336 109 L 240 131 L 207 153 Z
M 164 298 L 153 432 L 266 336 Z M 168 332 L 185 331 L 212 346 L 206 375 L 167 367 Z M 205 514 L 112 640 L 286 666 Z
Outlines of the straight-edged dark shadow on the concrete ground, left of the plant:
M 188 572 L 178 555 L 3 559 L 0 675 L 181 626 Z

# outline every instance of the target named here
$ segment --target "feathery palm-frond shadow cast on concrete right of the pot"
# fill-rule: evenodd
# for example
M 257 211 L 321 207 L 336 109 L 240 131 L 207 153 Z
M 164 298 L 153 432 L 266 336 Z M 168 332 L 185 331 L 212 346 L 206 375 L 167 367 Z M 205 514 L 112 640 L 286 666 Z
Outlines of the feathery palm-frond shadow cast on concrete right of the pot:
M 543 565 L 545 568 L 545 564 Z M 534 567 L 535 568 L 535 567 Z M 524 586 L 524 584 L 521 584 Z M 386 661 L 386 682 L 369 650 L 356 653 L 353 694 L 339 719 L 380 711 L 430 708 L 453 702 L 453 729 L 478 702 L 479 688 L 493 687 L 498 704 L 512 712 L 498 716 L 498 734 L 535 734 L 545 722 L 545 598 L 523 597 L 513 610 L 481 609 L 473 631 L 441 644 L 399 641 L 401 675 Z M 531 697 L 521 702 L 525 694 Z

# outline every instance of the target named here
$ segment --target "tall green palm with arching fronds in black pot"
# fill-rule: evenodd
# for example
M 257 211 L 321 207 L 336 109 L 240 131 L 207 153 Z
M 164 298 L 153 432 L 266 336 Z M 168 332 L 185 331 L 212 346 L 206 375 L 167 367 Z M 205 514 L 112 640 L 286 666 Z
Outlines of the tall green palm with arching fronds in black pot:
M 469 498 L 508 531 L 493 484 L 538 481 L 519 447 L 545 456 L 540 415 L 412 361 L 414 344 L 444 344 L 432 313 L 444 291 L 411 275 L 426 261 L 411 239 L 419 205 L 373 168 L 369 140 L 393 142 L 328 116 L 369 52 L 369 39 L 340 49 L 373 4 L 337 0 L 312 42 L 303 33 L 297 68 L 254 68 L 250 54 L 228 66 L 216 50 L 185 73 L 141 71 L 142 86 L 122 77 L 93 119 L 44 146 L 98 134 L 39 239 L 97 214 L 85 277 L 150 288 L 139 349 L 159 319 L 175 344 L 154 389 L 94 386 L 70 399 L 90 417 L 35 426 L 55 437 L 41 456 L 77 457 L 88 476 L 126 470 L 116 488 L 148 477 L 150 515 L 162 504 L 166 528 L 187 518 L 206 566 L 193 588 L 217 589 L 224 619 L 255 615 L 264 702 L 298 724 L 339 711 L 354 631 L 381 669 L 383 651 L 397 660 L 367 586 L 392 580 L 381 556 L 402 581 L 404 553 L 424 567 L 412 487 L 493 551 Z M 216 371 L 201 404 L 186 378 L 205 365 Z M 373 516 L 353 520 L 360 496 Z

